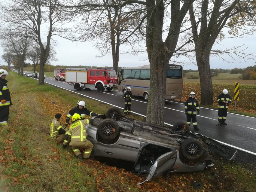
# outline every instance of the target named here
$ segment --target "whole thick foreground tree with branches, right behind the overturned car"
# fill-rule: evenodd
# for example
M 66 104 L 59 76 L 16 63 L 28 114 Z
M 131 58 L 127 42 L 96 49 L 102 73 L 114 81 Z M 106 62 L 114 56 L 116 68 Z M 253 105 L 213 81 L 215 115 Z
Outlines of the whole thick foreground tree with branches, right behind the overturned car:
M 166 89 L 166 69 L 173 54 L 179 49 L 176 48 L 180 35 L 183 19 L 186 16 L 190 5 L 195 0 L 184 1 L 163 1 L 163 0 L 127 0 L 122 1 L 120 5 L 114 2 L 107 4 L 97 4 L 95 1 L 77 1 L 77 4 L 65 6 L 67 7 L 83 7 L 87 10 L 106 9 L 106 8 L 123 8 L 123 14 L 141 13 L 145 10 L 146 24 L 146 51 L 150 62 L 150 97 L 147 108 L 147 122 L 163 125 L 164 122 L 164 99 Z M 117 7 L 116 7 L 117 6 Z M 133 10 L 126 9 L 133 6 Z M 119 10 L 117 9 L 117 10 Z M 170 12 L 170 13 L 169 13 Z M 170 14 L 170 22 L 166 27 L 163 26 L 165 14 Z M 168 15 L 169 16 L 169 15 Z M 140 25 L 136 30 L 140 30 Z M 163 40 L 163 32 L 168 31 L 166 38 Z M 134 32 L 132 31 L 131 34 Z

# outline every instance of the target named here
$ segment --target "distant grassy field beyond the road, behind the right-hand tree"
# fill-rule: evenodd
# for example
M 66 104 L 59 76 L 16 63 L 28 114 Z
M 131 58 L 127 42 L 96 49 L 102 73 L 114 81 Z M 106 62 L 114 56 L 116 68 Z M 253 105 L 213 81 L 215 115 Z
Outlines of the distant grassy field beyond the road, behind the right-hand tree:
M 200 83 L 200 79 L 187 79 L 191 75 L 199 77 L 199 72 L 186 73 L 184 77 L 185 83 Z M 229 74 L 219 73 L 218 76 L 212 77 L 212 84 L 228 84 L 233 85 L 235 82 L 239 82 L 240 85 L 256 85 L 256 80 L 243 80 L 241 79 L 242 74 Z

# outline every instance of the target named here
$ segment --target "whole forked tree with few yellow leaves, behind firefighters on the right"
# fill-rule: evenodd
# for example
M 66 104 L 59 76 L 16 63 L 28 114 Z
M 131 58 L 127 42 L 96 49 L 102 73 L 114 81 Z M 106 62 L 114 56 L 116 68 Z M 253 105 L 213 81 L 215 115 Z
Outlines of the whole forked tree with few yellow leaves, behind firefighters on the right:
M 210 54 L 220 56 L 224 53 L 235 53 L 246 59 L 248 54 L 237 51 L 237 48 L 233 48 L 233 50 L 212 50 L 212 47 L 216 40 L 224 37 L 221 32 L 224 27 L 231 27 L 230 34 L 234 36 L 242 36 L 255 31 L 255 3 L 255 0 L 216 0 L 213 3 L 203 0 L 199 1 L 195 8 L 193 5 L 190 6 L 189 14 L 200 75 L 202 104 L 213 104 Z

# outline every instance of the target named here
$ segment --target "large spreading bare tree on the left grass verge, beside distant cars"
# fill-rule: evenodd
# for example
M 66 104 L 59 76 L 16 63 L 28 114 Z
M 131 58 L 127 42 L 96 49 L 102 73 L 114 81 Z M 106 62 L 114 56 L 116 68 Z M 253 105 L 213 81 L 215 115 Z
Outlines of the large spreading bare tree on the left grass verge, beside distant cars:
M 39 85 L 44 84 L 44 65 L 50 53 L 55 27 L 63 22 L 58 17 L 56 3 L 57 0 L 9 0 L 0 6 L 2 22 L 8 23 L 10 30 L 17 28 L 17 25 L 21 26 L 40 47 Z M 44 32 L 47 35 L 43 38 Z

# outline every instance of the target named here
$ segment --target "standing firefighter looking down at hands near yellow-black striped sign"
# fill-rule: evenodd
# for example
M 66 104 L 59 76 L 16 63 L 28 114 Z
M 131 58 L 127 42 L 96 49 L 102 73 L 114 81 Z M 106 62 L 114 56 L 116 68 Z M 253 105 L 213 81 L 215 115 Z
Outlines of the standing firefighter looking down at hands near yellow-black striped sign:
M 230 95 L 228 94 L 228 90 L 224 89 L 222 93 L 218 96 L 217 102 L 219 103 L 218 105 L 218 125 L 224 124 L 227 125 L 226 123 L 226 117 L 227 117 L 227 109 L 229 103 L 232 102 L 232 99 Z

